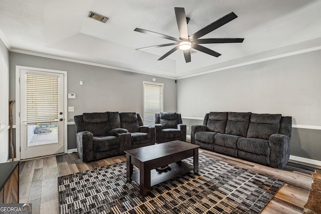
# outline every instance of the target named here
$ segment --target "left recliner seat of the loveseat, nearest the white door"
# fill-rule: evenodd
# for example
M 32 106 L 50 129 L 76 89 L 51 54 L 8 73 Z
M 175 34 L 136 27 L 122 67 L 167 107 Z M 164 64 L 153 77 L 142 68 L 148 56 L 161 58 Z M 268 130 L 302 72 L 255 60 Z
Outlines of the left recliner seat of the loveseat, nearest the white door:
M 74 117 L 77 152 L 83 162 L 123 154 L 130 149 L 130 133 L 120 128 L 118 112 L 83 113 Z

